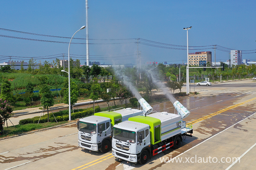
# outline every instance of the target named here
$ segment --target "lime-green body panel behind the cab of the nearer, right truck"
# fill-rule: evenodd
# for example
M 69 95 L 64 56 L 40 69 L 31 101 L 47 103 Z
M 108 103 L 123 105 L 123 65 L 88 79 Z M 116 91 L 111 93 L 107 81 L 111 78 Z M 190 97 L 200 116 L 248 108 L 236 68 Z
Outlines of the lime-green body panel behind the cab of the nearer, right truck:
M 159 119 L 156 119 L 154 117 L 148 117 L 148 116 L 135 116 L 130 117 L 128 119 L 129 121 L 133 122 L 140 122 L 148 124 L 150 129 L 150 143 L 151 144 L 157 144 L 161 142 L 161 121 Z M 154 128 L 156 126 L 159 126 L 157 128 Z

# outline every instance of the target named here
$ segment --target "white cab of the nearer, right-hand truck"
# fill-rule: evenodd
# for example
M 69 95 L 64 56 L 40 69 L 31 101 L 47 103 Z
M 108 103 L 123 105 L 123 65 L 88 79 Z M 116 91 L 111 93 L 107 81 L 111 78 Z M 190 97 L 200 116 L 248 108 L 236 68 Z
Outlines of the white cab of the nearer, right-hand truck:
M 149 125 L 125 121 L 113 129 L 112 155 L 129 162 L 138 162 L 150 156 Z M 142 156 L 144 155 L 144 158 Z

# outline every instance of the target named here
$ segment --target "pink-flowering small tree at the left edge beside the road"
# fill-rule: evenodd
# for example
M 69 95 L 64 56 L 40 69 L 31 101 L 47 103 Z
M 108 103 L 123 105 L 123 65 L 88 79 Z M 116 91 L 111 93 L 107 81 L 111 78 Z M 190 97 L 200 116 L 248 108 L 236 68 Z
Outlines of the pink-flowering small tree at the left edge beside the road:
M 5 122 L 14 115 L 12 111 L 13 107 L 6 100 L 0 99 L 0 134 L 4 133 Z

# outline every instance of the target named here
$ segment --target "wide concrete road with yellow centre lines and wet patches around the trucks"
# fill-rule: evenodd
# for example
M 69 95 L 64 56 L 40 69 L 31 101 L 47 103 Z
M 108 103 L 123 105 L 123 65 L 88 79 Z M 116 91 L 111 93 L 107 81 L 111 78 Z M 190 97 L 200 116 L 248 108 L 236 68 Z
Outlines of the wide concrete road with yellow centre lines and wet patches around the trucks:
M 191 112 L 184 120 L 193 125 L 193 137 L 183 140 L 179 149 L 165 150 L 143 166 L 118 162 L 111 152 L 82 150 L 77 147 L 77 128 L 72 124 L 0 141 L 0 170 L 153 170 L 170 169 L 170 166 L 174 169 L 255 169 L 255 86 L 256 82 L 251 80 L 196 86 L 195 91 L 200 95 L 179 100 Z M 156 111 L 174 112 L 171 102 L 152 107 Z M 163 162 L 175 157 L 182 161 Z M 240 162 L 229 161 L 233 157 L 241 157 Z M 200 158 L 205 163 L 200 163 Z

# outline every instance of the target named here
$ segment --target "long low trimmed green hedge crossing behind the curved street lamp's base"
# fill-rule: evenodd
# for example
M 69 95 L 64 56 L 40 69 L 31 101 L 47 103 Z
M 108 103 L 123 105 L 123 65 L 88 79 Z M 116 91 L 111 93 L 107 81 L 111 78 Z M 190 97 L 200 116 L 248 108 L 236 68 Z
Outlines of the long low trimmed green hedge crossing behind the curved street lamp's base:
M 97 113 L 97 112 L 100 112 L 100 107 L 98 107 L 98 106 L 95 107 L 95 113 Z M 81 112 L 71 113 L 71 119 L 75 120 L 77 118 L 83 118 L 83 117 L 92 115 L 93 113 L 94 113 L 93 108 L 89 108 L 89 109 L 86 109 Z M 54 113 L 54 116 L 55 116 L 57 122 L 68 121 L 68 119 L 69 119 L 68 110 L 56 112 L 56 113 Z M 56 122 L 54 116 L 52 113 L 49 113 L 49 122 Z M 39 121 L 39 119 L 40 119 L 40 121 Z M 39 123 L 47 122 L 47 114 L 41 116 L 41 118 L 40 118 L 40 116 L 36 116 L 33 118 L 22 119 L 19 121 L 19 124 L 38 123 L 38 121 L 39 121 Z

